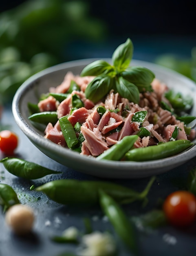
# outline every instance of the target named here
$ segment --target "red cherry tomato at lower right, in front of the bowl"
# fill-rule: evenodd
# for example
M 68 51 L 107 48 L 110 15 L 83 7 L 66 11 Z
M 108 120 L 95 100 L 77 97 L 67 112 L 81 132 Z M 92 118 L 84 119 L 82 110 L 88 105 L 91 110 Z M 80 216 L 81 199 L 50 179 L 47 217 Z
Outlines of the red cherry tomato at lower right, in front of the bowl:
M 196 220 L 196 197 L 188 191 L 171 193 L 163 203 L 163 211 L 171 225 L 187 227 Z

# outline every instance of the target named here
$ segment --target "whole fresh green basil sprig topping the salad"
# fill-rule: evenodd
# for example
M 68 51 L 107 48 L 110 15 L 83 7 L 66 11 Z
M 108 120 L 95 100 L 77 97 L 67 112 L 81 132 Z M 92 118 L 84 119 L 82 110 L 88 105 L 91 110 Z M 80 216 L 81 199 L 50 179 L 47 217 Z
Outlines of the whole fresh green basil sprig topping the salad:
M 96 103 L 113 89 L 121 97 L 139 103 L 140 92 L 152 91 L 154 73 L 145 67 L 130 67 L 133 48 L 132 41 L 128 38 L 112 54 L 113 65 L 97 60 L 84 67 L 81 76 L 96 76 L 85 90 L 86 98 Z

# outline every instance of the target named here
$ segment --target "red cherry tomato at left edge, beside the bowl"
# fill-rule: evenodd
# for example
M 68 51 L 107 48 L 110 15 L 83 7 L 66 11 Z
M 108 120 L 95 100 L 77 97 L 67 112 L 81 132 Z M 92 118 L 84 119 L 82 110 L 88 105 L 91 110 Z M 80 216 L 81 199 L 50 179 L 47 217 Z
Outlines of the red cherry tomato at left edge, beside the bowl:
M 14 150 L 18 146 L 18 136 L 9 131 L 2 130 L 0 132 L 0 150 L 7 155 L 13 155 Z

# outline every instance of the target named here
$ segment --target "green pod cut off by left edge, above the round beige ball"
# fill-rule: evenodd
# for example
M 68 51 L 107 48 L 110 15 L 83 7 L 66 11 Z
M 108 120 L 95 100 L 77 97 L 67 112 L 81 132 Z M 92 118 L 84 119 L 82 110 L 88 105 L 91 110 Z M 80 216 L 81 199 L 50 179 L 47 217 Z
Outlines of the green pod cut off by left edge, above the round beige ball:
M 0 204 L 4 206 L 4 211 L 14 204 L 20 204 L 17 194 L 13 188 L 7 184 L 0 183 Z

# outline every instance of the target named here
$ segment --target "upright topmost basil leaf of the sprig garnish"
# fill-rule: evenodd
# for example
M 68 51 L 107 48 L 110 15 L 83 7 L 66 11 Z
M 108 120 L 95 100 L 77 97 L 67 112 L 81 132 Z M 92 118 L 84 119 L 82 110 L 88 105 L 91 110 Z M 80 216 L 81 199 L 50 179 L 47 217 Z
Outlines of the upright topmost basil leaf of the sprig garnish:
M 130 38 L 125 43 L 119 45 L 112 54 L 112 62 L 117 71 L 125 70 L 132 60 L 133 44 Z

